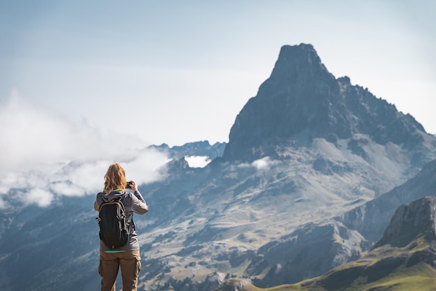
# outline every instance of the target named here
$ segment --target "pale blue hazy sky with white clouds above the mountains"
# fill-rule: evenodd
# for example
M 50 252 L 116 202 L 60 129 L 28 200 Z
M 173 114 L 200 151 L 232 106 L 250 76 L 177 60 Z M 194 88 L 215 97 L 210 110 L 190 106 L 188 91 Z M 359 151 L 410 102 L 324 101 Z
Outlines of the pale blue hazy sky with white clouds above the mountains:
M 227 142 L 281 46 L 299 43 L 436 133 L 434 15 L 433 0 L 0 1 L 0 174 Z

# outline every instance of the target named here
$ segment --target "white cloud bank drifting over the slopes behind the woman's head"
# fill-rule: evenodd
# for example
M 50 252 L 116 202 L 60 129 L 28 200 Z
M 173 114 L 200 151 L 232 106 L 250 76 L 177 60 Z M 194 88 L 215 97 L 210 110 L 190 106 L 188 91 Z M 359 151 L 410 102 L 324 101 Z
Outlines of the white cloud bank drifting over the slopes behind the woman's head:
M 118 118 L 116 110 L 108 118 Z M 14 200 L 46 207 L 61 195 L 95 194 L 111 163 L 138 184 L 156 181 L 169 161 L 135 137 L 69 124 L 16 92 L 0 103 L 0 135 L 0 208 Z

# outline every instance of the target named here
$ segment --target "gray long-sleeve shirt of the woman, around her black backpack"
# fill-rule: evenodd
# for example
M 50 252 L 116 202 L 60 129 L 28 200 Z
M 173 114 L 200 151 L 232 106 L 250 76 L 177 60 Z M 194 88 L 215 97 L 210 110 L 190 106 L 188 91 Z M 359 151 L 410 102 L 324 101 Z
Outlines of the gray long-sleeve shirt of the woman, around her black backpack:
M 139 191 L 134 191 L 131 193 L 129 191 L 124 190 L 116 190 L 106 195 L 104 192 L 100 192 L 97 194 L 94 203 L 94 209 L 98 211 L 100 209 L 100 205 L 103 202 L 109 202 L 118 197 L 121 198 L 121 202 L 124 204 L 125 214 L 126 214 L 126 222 L 128 225 L 132 225 L 133 221 L 133 213 L 137 214 L 145 214 L 148 211 L 148 205 L 146 200 L 143 199 L 141 193 Z M 129 241 L 125 246 L 120 248 L 116 248 L 115 250 L 111 250 L 108 246 L 104 244 L 103 241 L 100 240 L 100 251 L 136 251 L 139 250 L 139 242 L 137 231 L 134 227 L 130 227 L 130 236 Z

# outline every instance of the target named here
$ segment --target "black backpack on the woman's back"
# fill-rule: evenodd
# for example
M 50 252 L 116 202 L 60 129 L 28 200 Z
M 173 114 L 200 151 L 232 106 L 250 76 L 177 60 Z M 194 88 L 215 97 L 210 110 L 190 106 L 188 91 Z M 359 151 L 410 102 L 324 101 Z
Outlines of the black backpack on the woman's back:
M 125 208 L 121 197 L 104 202 L 98 211 L 99 236 L 104 244 L 111 249 L 125 246 L 129 241 L 129 228 L 126 223 Z

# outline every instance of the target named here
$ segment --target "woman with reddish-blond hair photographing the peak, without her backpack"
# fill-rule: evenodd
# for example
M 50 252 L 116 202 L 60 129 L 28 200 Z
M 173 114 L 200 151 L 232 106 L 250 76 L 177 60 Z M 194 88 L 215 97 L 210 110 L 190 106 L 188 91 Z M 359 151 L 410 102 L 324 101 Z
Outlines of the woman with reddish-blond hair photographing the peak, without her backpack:
M 123 291 L 137 290 L 138 275 L 141 271 L 141 256 L 137 232 L 134 229 L 133 213 L 145 214 L 148 211 L 146 201 L 143 200 L 138 186 L 130 181 L 130 189 L 126 191 L 127 181 L 125 171 L 118 163 L 109 165 L 104 175 L 104 191 L 97 194 L 94 209 L 99 211 L 104 202 L 120 198 L 125 207 L 127 225 L 130 225 L 130 236 L 127 244 L 120 248 L 109 248 L 100 240 L 100 264 L 98 272 L 102 276 L 102 291 L 115 291 L 115 281 L 118 268 L 123 276 Z

